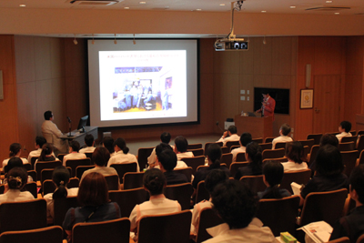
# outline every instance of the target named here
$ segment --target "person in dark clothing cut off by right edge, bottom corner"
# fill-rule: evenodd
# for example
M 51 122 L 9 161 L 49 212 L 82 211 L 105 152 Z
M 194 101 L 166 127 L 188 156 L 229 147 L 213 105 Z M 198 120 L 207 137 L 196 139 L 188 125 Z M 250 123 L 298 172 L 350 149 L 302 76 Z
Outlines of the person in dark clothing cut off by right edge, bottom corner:
M 355 167 L 350 175 L 350 197 L 355 200 L 356 208 L 334 225 L 330 240 L 348 237 L 350 242 L 364 234 L 364 165 Z

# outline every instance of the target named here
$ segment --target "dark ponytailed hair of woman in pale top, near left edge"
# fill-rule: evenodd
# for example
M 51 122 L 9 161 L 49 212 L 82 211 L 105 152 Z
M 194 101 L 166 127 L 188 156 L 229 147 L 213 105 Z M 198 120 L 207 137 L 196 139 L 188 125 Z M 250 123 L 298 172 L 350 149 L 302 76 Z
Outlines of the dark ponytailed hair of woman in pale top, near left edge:
M 69 181 L 69 171 L 66 167 L 56 167 L 52 174 L 52 180 L 56 184 L 56 191 L 53 193 L 53 199 L 66 198 L 66 185 Z

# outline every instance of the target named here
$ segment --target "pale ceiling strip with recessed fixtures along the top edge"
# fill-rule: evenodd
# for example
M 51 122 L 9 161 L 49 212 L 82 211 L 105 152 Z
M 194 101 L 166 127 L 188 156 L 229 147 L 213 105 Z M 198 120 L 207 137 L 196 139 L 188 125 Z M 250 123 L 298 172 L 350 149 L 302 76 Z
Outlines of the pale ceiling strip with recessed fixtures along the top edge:
M 116 5 L 75 5 L 71 0 L 0 0 L 0 8 L 96 8 L 96 9 L 125 9 L 130 10 L 165 10 L 165 11 L 230 11 L 231 2 L 226 0 L 141 0 L 146 4 L 139 4 L 139 0 L 124 0 Z M 223 5 L 225 4 L 225 5 Z M 296 8 L 290 8 L 296 6 Z M 321 10 L 308 11 L 308 8 L 325 7 Z M 349 7 L 349 9 L 329 9 L 328 7 Z M 201 10 L 197 10 L 201 9 Z M 127 10 L 125 10 L 127 11 Z M 318 15 L 364 15 L 364 0 L 245 0 L 242 11 L 246 13 L 261 13 L 267 11 L 270 14 L 318 14 Z M 263 13 L 262 13 L 263 14 Z

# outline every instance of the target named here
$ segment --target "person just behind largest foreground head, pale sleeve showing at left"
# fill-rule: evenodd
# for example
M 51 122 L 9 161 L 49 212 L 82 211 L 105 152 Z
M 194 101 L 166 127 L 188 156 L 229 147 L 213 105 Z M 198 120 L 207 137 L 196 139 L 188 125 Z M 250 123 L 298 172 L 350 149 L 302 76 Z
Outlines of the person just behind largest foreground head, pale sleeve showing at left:
M 192 225 L 191 225 L 191 233 L 197 234 L 198 230 L 198 224 L 199 224 L 199 214 L 201 213 L 202 209 L 204 208 L 212 208 L 211 203 L 211 194 L 214 191 L 214 188 L 217 186 L 218 183 L 224 182 L 228 179 L 227 173 L 225 171 L 219 170 L 219 169 L 213 169 L 211 172 L 207 175 L 205 179 L 205 187 L 208 191 L 208 194 L 210 195 L 210 199 L 203 200 L 197 204 L 195 204 L 193 210 L 192 210 Z

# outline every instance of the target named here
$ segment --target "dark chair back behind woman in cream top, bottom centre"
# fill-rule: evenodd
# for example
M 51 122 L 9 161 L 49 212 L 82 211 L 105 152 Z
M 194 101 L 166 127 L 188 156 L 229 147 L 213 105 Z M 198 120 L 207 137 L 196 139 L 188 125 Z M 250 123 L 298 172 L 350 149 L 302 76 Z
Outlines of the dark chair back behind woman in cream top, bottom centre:
M 139 222 L 138 242 L 188 243 L 191 218 L 190 210 L 165 215 L 144 216 Z

